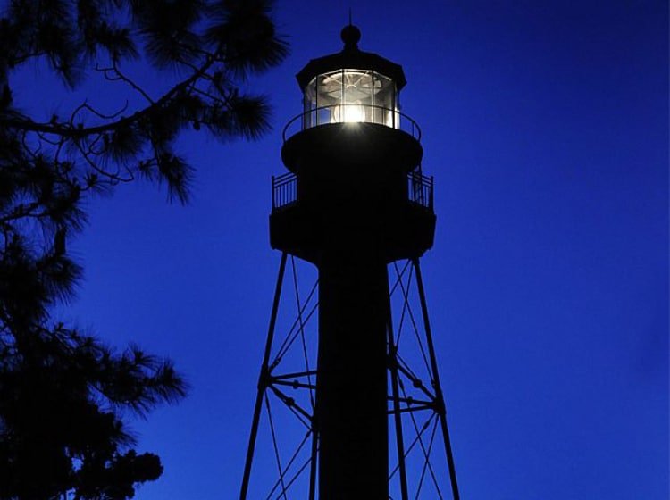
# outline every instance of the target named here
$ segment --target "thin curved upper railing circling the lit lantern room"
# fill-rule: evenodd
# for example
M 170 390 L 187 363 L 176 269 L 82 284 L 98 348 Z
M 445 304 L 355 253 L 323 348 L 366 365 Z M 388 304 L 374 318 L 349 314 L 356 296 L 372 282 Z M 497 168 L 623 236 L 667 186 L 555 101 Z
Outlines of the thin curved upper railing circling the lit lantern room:
M 348 121 L 346 119 L 333 120 L 332 117 L 335 116 L 336 112 L 343 114 L 346 113 L 347 108 L 354 107 L 363 109 L 363 119 L 356 121 Z M 421 140 L 421 129 L 416 121 L 398 110 L 373 104 L 331 104 L 330 106 L 322 106 L 301 112 L 286 124 L 282 137 L 284 142 L 286 142 L 289 137 L 294 136 L 302 130 L 330 123 L 377 123 L 389 127 L 389 129 L 400 129 L 416 140 Z

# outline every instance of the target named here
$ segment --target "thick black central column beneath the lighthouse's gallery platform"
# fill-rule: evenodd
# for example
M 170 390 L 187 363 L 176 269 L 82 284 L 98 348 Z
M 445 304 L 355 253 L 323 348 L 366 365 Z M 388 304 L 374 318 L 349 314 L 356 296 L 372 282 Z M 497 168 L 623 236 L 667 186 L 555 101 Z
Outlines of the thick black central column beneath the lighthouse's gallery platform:
M 319 264 L 319 499 L 389 497 L 386 263 L 370 247 Z

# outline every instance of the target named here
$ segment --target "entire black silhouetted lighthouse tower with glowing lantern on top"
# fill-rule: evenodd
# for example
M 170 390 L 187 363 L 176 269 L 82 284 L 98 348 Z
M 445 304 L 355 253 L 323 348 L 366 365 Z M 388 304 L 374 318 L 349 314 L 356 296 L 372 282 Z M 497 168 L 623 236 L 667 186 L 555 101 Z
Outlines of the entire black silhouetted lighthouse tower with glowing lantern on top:
M 305 467 L 309 486 L 298 497 L 387 499 L 395 477 L 398 496 L 393 497 L 409 498 L 408 475 L 422 471 L 407 470 L 408 448 L 423 448 L 429 465 L 430 452 L 420 429 L 419 441 L 406 438 L 409 424 L 403 424 L 403 417 L 429 410 L 448 464 L 442 478 L 436 478 L 432 466 L 430 474 L 436 486 L 441 482 L 457 498 L 419 267 L 419 258 L 432 246 L 436 221 L 432 178 L 421 171 L 421 132 L 400 112 L 400 91 L 406 85 L 402 68 L 361 51 L 361 32 L 355 26 L 342 29 L 341 38 L 339 53 L 313 59 L 297 73 L 304 108 L 284 129 L 281 159 L 288 172 L 273 178 L 270 241 L 282 258 L 240 498 L 247 498 L 268 392 L 302 415 L 311 437 Z M 318 341 L 315 366 L 282 373 L 280 363 L 272 362 L 272 349 L 288 259 L 318 270 Z M 398 285 L 389 266 L 398 270 L 398 262 L 404 261 L 420 303 L 412 321 L 423 323 L 421 351 L 430 379 L 425 382 L 398 354 L 393 329 L 390 297 Z M 409 287 L 401 278 L 399 282 L 403 290 Z M 407 302 L 409 290 L 402 294 Z M 282 392 L 287 385 L 312 391 L 312 403 L 301 407 Z M 422 396 L 408 396 L 405 387 Z M 272 423 L 272 437 L 274 427 Z M 274 452 L 281 478 L 268 498 L 288 497 L 289 474 L 282 470 L 276 443 Z M 423 476 L 427 470 L 424 465 Z

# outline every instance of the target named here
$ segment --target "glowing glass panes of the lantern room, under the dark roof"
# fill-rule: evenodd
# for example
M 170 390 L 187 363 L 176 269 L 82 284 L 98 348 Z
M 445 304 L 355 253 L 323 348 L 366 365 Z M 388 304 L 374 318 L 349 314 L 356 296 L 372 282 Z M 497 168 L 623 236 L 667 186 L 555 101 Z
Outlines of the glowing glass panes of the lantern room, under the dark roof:
M 398 127 L 395 84 L 371 70 L 322 73 L 305 88 L 304 103 L 305 128 L 358 121 Z

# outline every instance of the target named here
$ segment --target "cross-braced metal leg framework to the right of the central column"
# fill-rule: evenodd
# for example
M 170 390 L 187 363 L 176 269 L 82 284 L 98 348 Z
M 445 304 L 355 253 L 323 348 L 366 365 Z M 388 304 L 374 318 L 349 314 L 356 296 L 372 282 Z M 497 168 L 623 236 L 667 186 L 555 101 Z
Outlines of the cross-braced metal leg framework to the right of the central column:
M 451 497 L 459 500 L 447 410 L 419 260 L 408 260 L 402 265 L 392 262 L 389 282 L 392 283 L 388 322 L 389 414 L 395 423 L 397 450 L 397 463 L 389 474 L 391 485 L 398 476 L 396 488 L 391 487 L 391 492 L 397 491 L 395 497 L 402 500 L 445 498 L 446 459 Z M 435 445 L 441 447 L 440 441 L 444 447 L 441 460 L 434 456 L 438 454 Z

